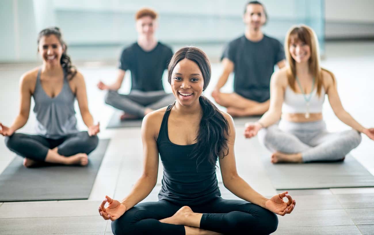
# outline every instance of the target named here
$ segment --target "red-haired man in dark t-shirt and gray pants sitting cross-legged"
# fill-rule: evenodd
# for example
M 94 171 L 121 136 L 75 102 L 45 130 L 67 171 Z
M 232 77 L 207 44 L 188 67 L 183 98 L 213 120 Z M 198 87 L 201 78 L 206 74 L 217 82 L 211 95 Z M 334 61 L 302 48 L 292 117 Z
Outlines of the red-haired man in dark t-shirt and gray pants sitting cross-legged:
M 175 101 L 173 94 L 166 94 L 162 86 L 162 74 L 173 56 L 171 48 L 156 40 L 157 13 L 148 8 L 135 14 L 138 40 L 126 47 L 121 54 L 117 80 L 111 85 L 98 83 L 98 88 L 108 90 L 105 103 L 123 110 L 123 119 L 143 118 L 153 110 Z M 131 71 L 131 91 L 119 94 L 126 70 Z

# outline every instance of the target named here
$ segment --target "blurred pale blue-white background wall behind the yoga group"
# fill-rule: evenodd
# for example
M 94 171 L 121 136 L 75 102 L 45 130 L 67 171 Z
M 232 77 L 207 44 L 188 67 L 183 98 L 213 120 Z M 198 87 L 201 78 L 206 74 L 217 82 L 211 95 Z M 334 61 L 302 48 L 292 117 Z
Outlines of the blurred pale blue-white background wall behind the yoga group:
M 37 61 L 36 37 L 61 28 L 74 61 L 116 61 L 136 40 L 134 13 L 159 12 L 157 38 L 175 49 L 199 46 L 218 61 L 224 45 L 243 34 L 244 0 L 1 0 L 0 62 Z M 269 14 L 264 32 L 283 42 L 294 24 L 307 24 L 325 40 L 373 39 L 373 0 L 263 0 Z

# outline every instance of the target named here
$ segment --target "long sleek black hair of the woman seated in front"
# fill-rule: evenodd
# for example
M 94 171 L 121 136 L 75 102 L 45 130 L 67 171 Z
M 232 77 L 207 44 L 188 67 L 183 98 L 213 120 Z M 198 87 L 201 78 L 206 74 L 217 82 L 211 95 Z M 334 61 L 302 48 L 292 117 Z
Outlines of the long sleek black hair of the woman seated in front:
M 171 83 L 171 75 L 174 67 L 182 59 L 189 59 L 195 62 L 203 75 L 204 87 L 208 86 L 211 78 L 211 65 L 206 54 L 196 47 L 184 47 L 179 49 L 171 58 L 168 67 L 168 82 Z M 206 97 L 201 95 L 199 102 L 202 107 L 203 115 L 200 120 L 200 127 L 196 137 L 196 146 L 191 152 L 191 158 L 196 158 L 196 168 L 208 158 L 208 161 L 215 165 L 217 157 L 223 153 L 223 156 L 229 154 L 227 144 L 229 135 L 229 123 L 222 115 L 220 110 Z M 175 104 L 175 103 L 174 103 Z M 174 106 L 170 106 L 168 110 Z

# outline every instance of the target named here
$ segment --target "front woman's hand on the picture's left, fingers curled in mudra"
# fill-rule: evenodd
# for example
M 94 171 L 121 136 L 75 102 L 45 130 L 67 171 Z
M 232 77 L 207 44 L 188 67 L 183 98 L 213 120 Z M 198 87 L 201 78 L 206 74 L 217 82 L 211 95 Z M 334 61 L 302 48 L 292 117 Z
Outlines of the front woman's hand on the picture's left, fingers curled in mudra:
M 108 207 L 105 208 L 105 204 L 109 203 Z M 108 196 L 105 196 L 104 201 L 101 202 L 99 206 L 99 213 L 105 220 L 114 221 L 125 214 L 126 206 L 121 202 L 111 199 Z

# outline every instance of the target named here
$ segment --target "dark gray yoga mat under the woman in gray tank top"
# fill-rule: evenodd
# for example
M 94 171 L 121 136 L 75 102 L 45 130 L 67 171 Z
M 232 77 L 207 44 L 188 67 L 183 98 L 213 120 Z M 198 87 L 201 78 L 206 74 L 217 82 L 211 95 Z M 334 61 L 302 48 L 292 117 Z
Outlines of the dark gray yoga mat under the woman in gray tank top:
M 99 141 L 86 167 L 26 168 L 16 156 L 0 175 L 0 202 L 88 199 L 109 141 Z

